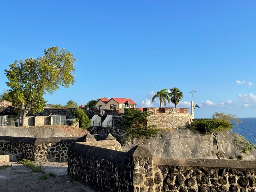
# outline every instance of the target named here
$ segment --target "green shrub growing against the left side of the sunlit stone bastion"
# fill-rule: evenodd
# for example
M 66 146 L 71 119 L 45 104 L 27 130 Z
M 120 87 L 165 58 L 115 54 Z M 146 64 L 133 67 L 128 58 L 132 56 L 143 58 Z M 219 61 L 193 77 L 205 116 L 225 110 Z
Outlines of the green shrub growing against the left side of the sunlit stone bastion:
M 156 126 L 147 126 L 147 120 L 152 112 L 141 112 L 135 109 L 126 110 L 123 117 L 128 123 L 130 130 L 127 131 L 126 139 L 131 139 L 132 137 L 150 137 L 158 134 L 159 130 Z

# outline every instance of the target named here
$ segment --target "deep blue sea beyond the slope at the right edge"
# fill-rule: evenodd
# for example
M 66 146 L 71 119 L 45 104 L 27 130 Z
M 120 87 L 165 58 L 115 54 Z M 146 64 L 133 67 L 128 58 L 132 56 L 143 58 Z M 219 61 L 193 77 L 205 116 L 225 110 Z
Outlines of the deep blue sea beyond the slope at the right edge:
M 242 123 L 232 129 L 233 132 L 245 137 L 247 141 L 250 139 L 256 144 L 256 118 L 240 118 Z

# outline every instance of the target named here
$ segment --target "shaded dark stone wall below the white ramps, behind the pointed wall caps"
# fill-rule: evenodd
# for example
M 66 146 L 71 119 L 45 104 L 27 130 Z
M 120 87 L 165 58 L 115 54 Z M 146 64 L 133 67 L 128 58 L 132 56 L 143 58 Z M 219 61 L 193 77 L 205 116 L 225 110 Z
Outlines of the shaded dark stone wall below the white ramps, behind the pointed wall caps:
M 126 138 L 125 134 L 128 131 L 128 129 L 99 126 L 90 126 L 87 130 L 96 140 L 103 140 L 108 134 L 111 134 L 121 145 L 124 144 Z

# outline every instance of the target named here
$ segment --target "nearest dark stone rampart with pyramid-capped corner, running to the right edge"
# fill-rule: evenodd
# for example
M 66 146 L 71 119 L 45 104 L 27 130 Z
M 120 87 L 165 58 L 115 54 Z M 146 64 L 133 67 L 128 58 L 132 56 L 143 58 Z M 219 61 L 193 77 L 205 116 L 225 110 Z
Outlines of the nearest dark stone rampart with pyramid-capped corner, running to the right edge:
M 140 144 L 127 153 L 69 148 L 69 176 L 95 191 L 253 192 L 255 170 L 255 161 L 157 158 Z

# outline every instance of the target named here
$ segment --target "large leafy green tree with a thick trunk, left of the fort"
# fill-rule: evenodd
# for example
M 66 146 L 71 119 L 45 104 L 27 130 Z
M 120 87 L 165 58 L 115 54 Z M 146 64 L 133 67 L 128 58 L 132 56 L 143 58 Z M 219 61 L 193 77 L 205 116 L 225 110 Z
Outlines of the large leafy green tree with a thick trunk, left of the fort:
M 52 94 L 59 86 L 70 87 L 75 82 L 73 54 L 65 48 L 51 47 L 44 50 L 44 55 L 26 58 L 10 64 L 5 70 L 6 82 L 10 88 L 13 104 L 20 106 L 20 125 L 26 114 L 41 112 L 46 106 L 43 94 Z

